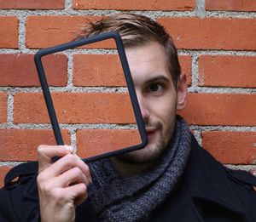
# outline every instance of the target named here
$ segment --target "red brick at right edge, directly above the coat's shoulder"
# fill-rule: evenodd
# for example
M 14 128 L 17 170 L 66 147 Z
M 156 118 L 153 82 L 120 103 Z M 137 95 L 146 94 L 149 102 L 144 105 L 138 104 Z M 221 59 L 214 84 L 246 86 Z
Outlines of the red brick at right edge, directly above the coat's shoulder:
M 204 132 L 202 145 L 220 162 L 256 163 L 256 132 Z

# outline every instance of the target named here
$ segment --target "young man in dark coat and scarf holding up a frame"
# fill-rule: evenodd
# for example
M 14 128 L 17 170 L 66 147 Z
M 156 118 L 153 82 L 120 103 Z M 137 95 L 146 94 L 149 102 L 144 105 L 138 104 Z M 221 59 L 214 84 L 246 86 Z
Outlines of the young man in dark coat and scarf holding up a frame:
M 123 39 L 148 145 L 89 166 L 70 146 L 40 145 L 38 168 L 9 173 L 1 221 L 256 221 L 253 175 L 224 168 L 176 115 L 187 85 L 172 38 L 136 14 L 88 24 L 81 37 L 108 31 Z M 55 156 L 61 158 L 52 163 Z

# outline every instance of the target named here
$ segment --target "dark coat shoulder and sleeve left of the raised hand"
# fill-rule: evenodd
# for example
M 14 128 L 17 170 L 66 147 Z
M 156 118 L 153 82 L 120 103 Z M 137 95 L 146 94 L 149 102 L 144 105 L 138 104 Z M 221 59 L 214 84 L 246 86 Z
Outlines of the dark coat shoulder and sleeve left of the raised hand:
M 0 190 L 0 221 L 39 221 L 36 162 L 12 168 Z

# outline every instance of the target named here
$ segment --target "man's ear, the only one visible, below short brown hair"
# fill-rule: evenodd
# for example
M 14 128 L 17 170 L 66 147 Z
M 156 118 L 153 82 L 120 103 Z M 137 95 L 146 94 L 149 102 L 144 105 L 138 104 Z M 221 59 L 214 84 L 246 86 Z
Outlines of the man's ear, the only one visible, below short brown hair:
M 187 77 L 184 73 L 181 73 L 177 79 L 177 111 L 182 111 L 187 105 Z

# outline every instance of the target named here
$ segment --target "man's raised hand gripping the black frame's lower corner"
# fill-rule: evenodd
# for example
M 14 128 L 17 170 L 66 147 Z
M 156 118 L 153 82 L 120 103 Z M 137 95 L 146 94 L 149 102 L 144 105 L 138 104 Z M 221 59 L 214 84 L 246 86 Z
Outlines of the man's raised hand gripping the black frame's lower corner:
M 38 194 L 42 222 L 75 220 L 75 207 L 87 198 L 88 166 L 68 145 L 38 147 Z M 52 157 L 61 157 L 52 162 Z

